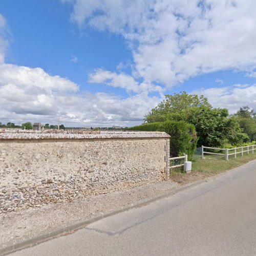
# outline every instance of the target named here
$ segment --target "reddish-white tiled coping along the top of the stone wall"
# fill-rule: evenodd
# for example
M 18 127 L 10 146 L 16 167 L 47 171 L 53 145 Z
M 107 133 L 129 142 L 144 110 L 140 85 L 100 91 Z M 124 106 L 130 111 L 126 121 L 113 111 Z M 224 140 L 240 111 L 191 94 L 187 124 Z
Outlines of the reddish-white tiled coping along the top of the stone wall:
M 0 140 L 169 138 L 165 132 L 0 130 Z

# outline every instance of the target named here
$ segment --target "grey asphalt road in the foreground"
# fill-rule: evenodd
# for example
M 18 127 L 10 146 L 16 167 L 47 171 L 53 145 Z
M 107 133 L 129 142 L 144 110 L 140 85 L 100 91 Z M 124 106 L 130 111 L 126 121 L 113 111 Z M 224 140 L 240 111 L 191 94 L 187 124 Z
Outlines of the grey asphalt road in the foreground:
M 256 255 L 256 161 L 12 255 Z

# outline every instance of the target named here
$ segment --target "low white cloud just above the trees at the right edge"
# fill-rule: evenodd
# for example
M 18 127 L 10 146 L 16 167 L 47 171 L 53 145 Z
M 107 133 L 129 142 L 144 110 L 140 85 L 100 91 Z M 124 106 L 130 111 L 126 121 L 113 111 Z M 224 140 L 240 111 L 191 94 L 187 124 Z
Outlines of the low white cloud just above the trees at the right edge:
M 204 95 L 214 107 L 227 108 L 230 114 L 236 113 L 245 105 L 256 110 L 256 84 L 234 84 L 222 88 L 200 89 L 191 93 Z

